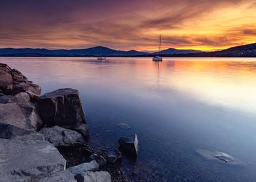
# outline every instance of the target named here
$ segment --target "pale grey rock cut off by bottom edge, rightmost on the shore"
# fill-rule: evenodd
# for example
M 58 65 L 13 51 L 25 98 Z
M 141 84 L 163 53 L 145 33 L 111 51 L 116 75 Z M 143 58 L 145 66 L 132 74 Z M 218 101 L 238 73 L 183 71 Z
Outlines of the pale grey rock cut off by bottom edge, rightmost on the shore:
M 111 182 L 111 175 L 108 172 L 84 172 L 76 175 L 78 182 Z

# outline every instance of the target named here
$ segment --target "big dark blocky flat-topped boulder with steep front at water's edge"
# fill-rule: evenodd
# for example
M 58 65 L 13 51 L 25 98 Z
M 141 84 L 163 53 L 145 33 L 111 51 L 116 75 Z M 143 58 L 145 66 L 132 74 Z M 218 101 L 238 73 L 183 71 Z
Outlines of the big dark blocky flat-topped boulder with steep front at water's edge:
M 64 88 L 44 94 L 37 105 L 42 120 L 48 126 L 86 123 L 78 90 Z

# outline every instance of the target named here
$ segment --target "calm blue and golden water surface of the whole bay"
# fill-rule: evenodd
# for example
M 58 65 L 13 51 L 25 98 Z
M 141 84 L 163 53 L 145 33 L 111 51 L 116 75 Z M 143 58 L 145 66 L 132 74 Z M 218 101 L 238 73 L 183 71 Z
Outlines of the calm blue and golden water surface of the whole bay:
M 42 92 L 80 90 L 95 146 L 137 133 L 135 181 L 256 181 L 256 59 L 0 58 Z M 116 124 L 129 123 L 131 129 Z M 223 151 L 244 165 L 204 159 Z

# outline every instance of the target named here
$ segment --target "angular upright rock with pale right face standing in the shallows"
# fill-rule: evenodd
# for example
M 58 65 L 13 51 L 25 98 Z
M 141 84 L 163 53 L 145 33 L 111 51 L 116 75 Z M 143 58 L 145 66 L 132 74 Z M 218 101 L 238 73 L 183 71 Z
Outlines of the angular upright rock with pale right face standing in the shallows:
M 118 140 L 120 148 L 129 152 L 131 155 L 138 155 L 138 138 L 137 135 L 131 135 L 129 137 L 121 137 Z

